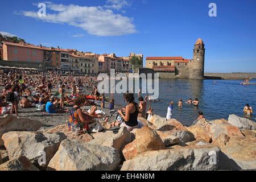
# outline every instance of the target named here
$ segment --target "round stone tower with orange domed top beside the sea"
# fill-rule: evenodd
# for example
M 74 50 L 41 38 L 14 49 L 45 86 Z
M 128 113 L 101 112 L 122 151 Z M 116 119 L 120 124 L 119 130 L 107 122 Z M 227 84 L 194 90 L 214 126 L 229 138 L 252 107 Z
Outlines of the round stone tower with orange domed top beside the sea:
M 193 60 L 189 64 L 189 78 L 204 79 L 205 48 L 202 39 L 197 39 L 193 51 Z

